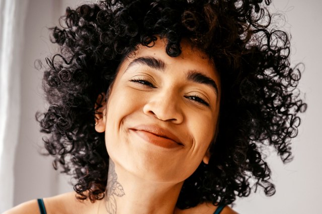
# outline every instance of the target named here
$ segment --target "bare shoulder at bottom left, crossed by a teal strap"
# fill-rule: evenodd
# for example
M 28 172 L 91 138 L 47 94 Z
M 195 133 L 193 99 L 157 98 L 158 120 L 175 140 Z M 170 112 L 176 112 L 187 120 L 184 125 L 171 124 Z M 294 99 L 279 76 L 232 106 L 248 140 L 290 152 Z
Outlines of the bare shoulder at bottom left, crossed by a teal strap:
M 94 205 L 88 200 L 79 201 L 75 192 L 67 192 L 53 197 L 43 198 L 47 213 L 86 213 Z M 24 202 L 3 214 L 40 214 L 37 199 Z

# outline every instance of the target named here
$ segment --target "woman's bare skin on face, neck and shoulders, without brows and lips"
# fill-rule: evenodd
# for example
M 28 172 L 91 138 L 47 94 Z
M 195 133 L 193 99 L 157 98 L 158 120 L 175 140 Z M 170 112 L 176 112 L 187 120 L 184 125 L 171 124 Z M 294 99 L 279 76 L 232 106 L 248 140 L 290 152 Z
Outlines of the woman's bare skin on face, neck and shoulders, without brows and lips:
M 220 104 L 220 79 L 214 64 L 185 40 L 181 46 L 182 54 L 170 57 L 165 52 L 165 40 L 158 39 L 151 48 L 139 46 L 134 57 L 121 63 L 108 101 L 99 109 L 102 114 L 96 116 L 96 131 L 105 132 L 110 155 L 107 196 L 95 203 L 76 200 L 74 192 L 45 198 L 47 213 L 215 211 L 216 206 L 211 203 L 185 210 L 175 206 L 184 180 L 202 161 L 206 164 L 209 161 L 208 148 L 216 131 Z M 133 63 L 138 58 L 162 60 L 165 66 L 160 69 Z M 217 90 L 188 80 L 191 71 L 212 79 Z M 133 127 L 142 124 L 172 132 L 180 144 L 167 148 L 153 143 L 154 137 L 149 138 L 146 132 L 133 131 Z M 37 201 L 28 201 L 6 214 L 22 210 L 39 213 Z M 221 213 L 236 212 L 226 206 Z

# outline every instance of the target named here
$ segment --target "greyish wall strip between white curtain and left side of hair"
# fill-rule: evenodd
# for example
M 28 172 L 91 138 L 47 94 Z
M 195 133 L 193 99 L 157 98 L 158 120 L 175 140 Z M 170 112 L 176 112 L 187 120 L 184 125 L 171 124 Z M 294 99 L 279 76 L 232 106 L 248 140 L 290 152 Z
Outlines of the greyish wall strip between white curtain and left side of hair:
M 39 154 L 43 135 L 39 133 L 35 113 L 45 109 L 45 101 L 41 90 L 43 73 L 34 67 L 35 59 L 43 60 L 53 50 L 47 27 L 54 26 L 61 14 L 59 3 L 57 0 L 31 0 L 28 8 L 21 73 L 21 125 L 15 161 L 15 204 L 59 193 L 58 173 L 51 167 L 52 159 Z

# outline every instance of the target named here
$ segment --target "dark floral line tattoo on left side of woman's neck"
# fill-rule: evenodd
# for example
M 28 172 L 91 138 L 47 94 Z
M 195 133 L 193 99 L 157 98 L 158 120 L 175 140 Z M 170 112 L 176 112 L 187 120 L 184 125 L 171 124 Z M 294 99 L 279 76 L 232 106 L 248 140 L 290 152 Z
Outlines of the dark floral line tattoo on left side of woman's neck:
M 105 208 L 107 213 L 116 214 L 116 200 L 115 196 L 122 197 L 125 195 L 123 186 L 117 181 L 117 174 L 115 173 L 115 165 L 110 159 L 109 173 L 107 178 Z

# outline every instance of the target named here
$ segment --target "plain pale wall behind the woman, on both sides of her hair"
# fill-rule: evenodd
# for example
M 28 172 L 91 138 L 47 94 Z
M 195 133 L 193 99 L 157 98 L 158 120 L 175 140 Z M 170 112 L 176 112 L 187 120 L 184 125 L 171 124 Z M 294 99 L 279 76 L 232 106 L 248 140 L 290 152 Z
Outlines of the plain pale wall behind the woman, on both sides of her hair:
M 84 1 L 83 1 L 84 3 Z M 39 155 L 42 134 L 35 122 L 35 113 L 45 110 L 41 90 L 42 73 L 34 68 L 35 59 L 44 59 L 57 52 L 49 42 L 48 27 L 55 26 L 67 6 L 77 0 L 31 0 L 25 24 L 24 63 L 21 76 L 21 125 L 15 161 L 15 205 L 38 197 L 48 197 L 71 191 L 68 177 L 52 168 L 52 158 Z M 300 89 L 305 92 L 307 112 L 302 115 L 298 137 L 293 141 L 294 160 L 282 164 L 272 152 L 268 162 L 277 192 L 266 197 L 263 191 L 237 199 L 234 209 L 240 213 L 322 213 L 322 2 L 319 0 L 279 0 L 271 11 L 285 15 L 284 29 L 292 34 L 291 61 L 303 62 Z M 280 20 L 281 21 L 281 20 Z

